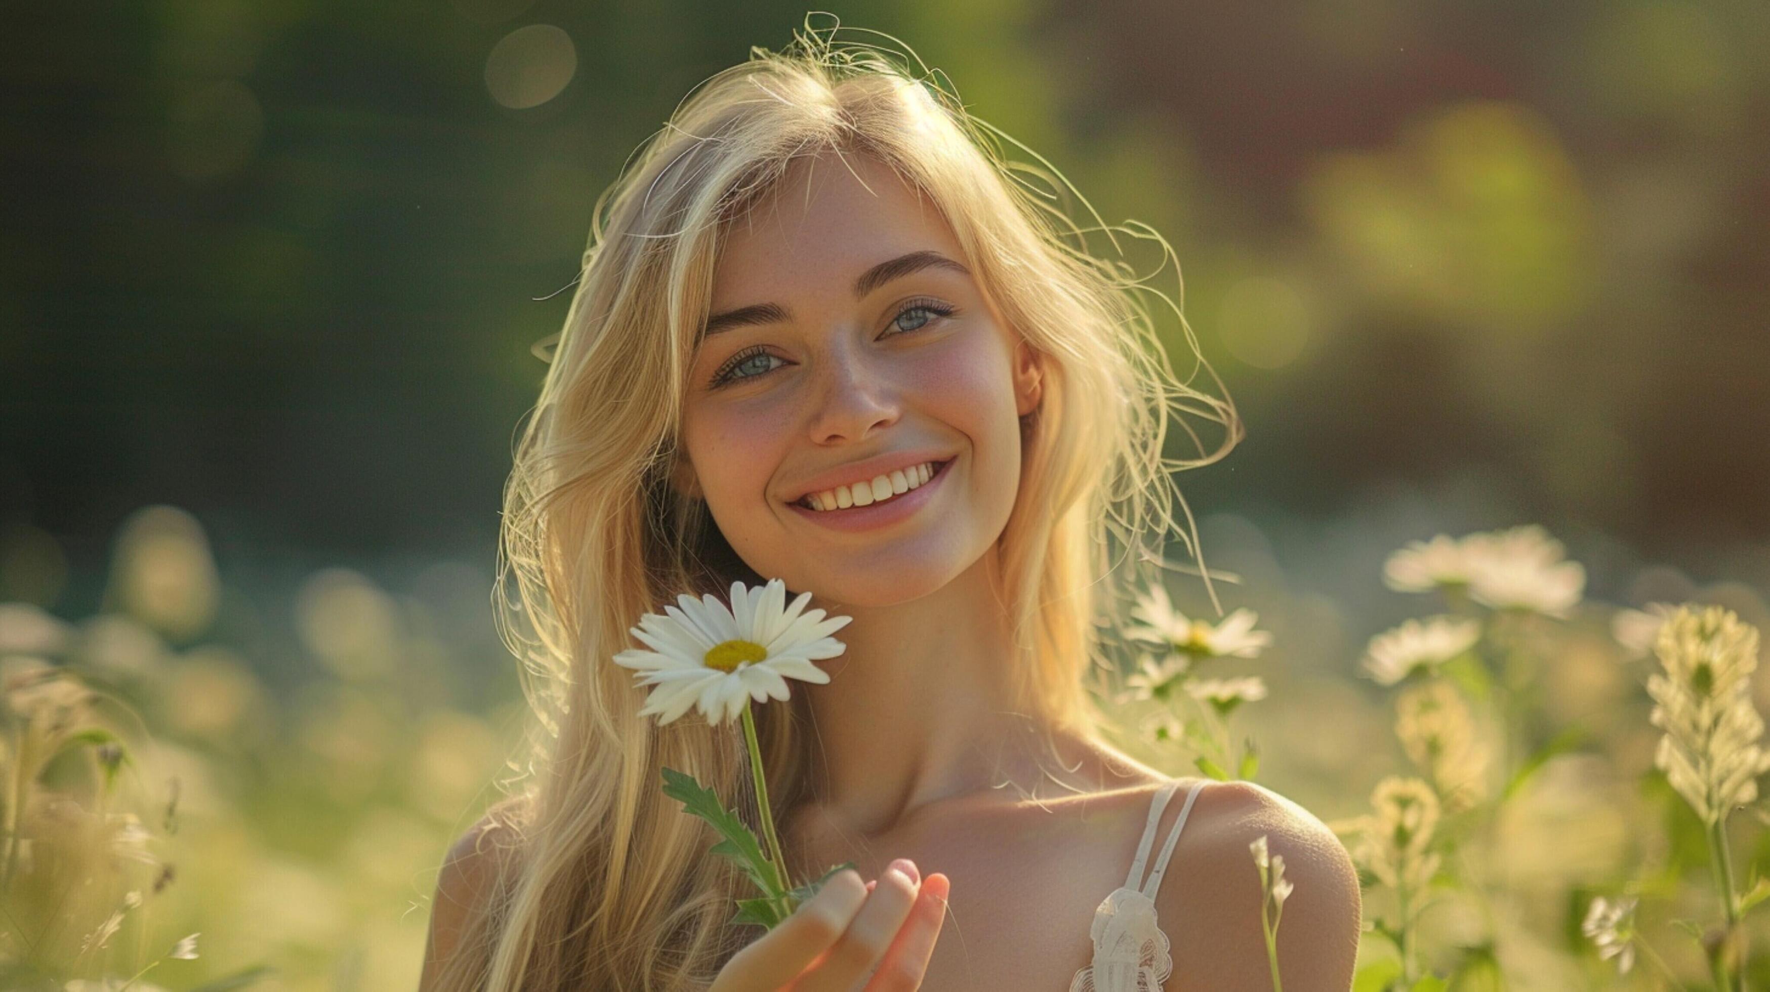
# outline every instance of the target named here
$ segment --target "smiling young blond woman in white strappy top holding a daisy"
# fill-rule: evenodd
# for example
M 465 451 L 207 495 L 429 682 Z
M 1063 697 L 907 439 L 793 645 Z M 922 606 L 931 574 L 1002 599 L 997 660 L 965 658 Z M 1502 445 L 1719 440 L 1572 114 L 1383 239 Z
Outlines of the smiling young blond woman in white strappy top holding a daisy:
M 703 83 L 598 202 L 503 519 L 535 762 L 444 863 L 423 988 L 1269 988 L 1260 834 L 1296 884 L 1285 988 L 1351 987 L 1333 833 L 1097 732 L 1096 622 L 1175 530 L 1172 471 L 1241 429 L 979 124 L 809 32 Z M 1168 461 L 1170 413 L 1227 441 Z M 611 655 L 678 592 L 766 577 L 853 618 L 830 680 L 756 719 L 793 877 L 858 872 L 758 934 L 660 792 L 667 765 L 750 795 L 742 740 L 637 716 Z M 1120 887 L 1159 932 L 1113 971 Z

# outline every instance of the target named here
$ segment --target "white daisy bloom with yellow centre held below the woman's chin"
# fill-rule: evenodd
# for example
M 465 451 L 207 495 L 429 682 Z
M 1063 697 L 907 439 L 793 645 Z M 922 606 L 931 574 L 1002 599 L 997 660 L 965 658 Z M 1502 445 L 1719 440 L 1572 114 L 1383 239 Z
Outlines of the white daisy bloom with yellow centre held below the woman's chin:
M 809 592 L 784 606 L 781 579 L 758 588 L 731 583 L 729 609 L 713 593 L 701 599 L 681 593 L 676 602 L 680 609 L 666 606 L 667 616 L 646 613 L 630 629 L 651 650 L 614 655 L 614 664 L 641 671 L 639 686 L 657 686 L 639 716 L 657 714 L 658 723 L 699 707 L 719 726 L 736 719 L 750 698 L 758 703 L 789 698 L 788 678 L 828 682 L 830 675 L 812 661 L 848 650 L 830 634 L 853 618 L 825 620 L 823 609 L 805 611 Z

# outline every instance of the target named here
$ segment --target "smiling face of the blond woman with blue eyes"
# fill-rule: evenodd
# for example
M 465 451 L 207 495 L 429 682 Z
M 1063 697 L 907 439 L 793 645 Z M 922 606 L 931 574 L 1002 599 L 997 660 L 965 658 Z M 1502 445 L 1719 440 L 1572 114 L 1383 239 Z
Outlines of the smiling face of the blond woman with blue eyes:
M 869 158 L 820 156 L 720 252 L 676 480 L 761 576 L 889 606 L 995 544 L 1037 402 L 1032 351 L 933 204 Z M 917 464 L 931 480 L 897 492 Z

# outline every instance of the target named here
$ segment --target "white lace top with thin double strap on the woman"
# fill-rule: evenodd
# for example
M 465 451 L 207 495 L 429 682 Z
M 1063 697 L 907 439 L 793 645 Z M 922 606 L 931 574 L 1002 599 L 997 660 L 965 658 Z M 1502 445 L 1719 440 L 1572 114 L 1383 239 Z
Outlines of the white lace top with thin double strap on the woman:
M 1198 779 L 1186 794 L 1181 818 L 1174 822 L 1168 841 L 1156 857 L 1156 868 L 1145 880 L 1143 863 L 1149 861 L 1149 849 L 1156 840 L 1156 820 L 1168 806 L 1168 797 L 1181 787 L 1179 779 L 1158 788 L 1149 801 L 1149 824 L 1136 845 L 1136 859 L 1124 886 L 1113 889 L 1094 909 L 1094 926 L 1089 928 L 1094 960 L 1076 973 L 1069 992 L 1161 992 L 1161 983 L 1174 971 L 1174 960 L 1168 957 L 1168 935 L 1156 925 L 1156 889 L 1161 887 L 1174 841 L 1181 840 L 1181 827 L 1186 825 L 1186 817 L 1193 811 L 1193 801 L 1198 799 L 1205 781 L 1209 779 Z

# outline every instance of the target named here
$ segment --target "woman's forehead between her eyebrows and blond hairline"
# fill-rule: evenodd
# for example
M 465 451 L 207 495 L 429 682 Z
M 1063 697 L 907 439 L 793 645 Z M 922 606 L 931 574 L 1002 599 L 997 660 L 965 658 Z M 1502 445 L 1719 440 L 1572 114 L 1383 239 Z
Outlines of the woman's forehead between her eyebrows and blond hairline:
M 731 227 L 713 267 L 712 310 L 789 298 L 839 303 L 869 266 L 922 248 L 965 259 L 940 209 L 890 167 L 858 154 L 805 158 Z

